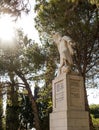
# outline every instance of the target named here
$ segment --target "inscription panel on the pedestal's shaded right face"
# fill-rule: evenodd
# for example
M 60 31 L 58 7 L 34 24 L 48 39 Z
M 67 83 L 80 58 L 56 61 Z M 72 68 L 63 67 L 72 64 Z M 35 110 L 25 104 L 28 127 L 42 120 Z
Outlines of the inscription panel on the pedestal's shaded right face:
M 81 105 L 81 87 L 80 82 L 71 80 L 70 82 L 70 105 L 80 106 Z

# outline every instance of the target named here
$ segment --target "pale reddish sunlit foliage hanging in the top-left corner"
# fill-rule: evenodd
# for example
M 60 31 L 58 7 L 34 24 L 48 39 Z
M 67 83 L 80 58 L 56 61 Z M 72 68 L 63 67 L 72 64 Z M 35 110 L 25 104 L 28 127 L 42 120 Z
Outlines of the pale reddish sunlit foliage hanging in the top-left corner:
M 22 12 L 28 13 L 30 10 L 29 0 L 1 0 L 0 13 L 11 14 L 12 16 L 20 16 Z

